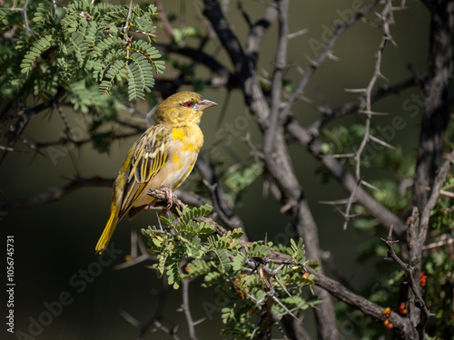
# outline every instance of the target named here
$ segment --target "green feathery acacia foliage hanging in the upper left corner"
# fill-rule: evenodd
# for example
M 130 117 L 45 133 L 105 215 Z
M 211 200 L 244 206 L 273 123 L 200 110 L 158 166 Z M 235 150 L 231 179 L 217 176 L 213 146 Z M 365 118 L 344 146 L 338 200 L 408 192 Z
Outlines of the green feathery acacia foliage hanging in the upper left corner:
M 118 92 L 114 87 L 126 87 L 130 101 L 143 100 L 153 88 L 153 72 L 164 70 L 163 61 L 158 60 L 161 54 L 152 45 L 156 8 L 134 5 L 127 19 L 128 10 L 128 6 L 87 0 L 68 5 L 32 2 L 27 6 L 30 34 L 23 31 L 23 15 L 0 11 L 5 32 L 17 34 L 10 46 L 1 47 L 1 91 L 20 98 L 31 89 L 35 95 L 51 98 L 59 89 L 74 94 L 74 87 L 84 84 L 92 98 L 94 92 L 104 94 L 97 102 L 112 104 L 105 95 Z M 87 111 L 89 106 L 77 102 L 74 109 Z

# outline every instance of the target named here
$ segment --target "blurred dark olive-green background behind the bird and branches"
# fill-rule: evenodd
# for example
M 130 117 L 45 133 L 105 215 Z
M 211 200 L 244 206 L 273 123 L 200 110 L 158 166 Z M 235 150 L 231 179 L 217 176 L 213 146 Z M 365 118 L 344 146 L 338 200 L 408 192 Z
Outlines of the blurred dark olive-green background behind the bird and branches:
M 247 24 L 236 2 L 230 3 L 228 18 L 235 33 L 244 43 L 248 33 Z M 259 1 L 240 3 L 251 15 L 252 21 L 255 21 L 264 9 Z M 288 63 L 299 65 L 302 69 L 306 68 L 308 60 L 317 56 L 313 46 L 324 43 L 332 21 L 345 21 L 346 16 L 350 18 L 352 6 L 361 4 L 366 5 L 368 2 L 291 1 L 289 31 L 294 33 L 308 29 L 308 32 L 290 40 Z M 204 31 L 205 27 L 200 17 L 201 5 L 201 1 L 163 2 L 167 14 L 180 16 L 183 8 L 185 24 L 199 27 Z M 410 77 L 408 64 L 420 73 L 424 73 L 426 69 L 428 15 L 418 1 L 409 1 L 406 5 L 407 9 L 395 12 L 396 24 L 391 26 L 391 34 L 398 46 L 387 45 L 383 54 L 382 73 L 390 84 Z M 276 32 L 276 25 L 273 25 L 262 44 L 259 60 L 259 71 L 262 74 L 271 72 Z M 317 105 L 327 103 L 331 108 L 356 100 L 357 94 L 345 92 L 344 89 L 364 88 L 369 83 L 375 63 L 374 53 L 380 43 L 380 33 L 380 29 L 365 23 L 357 23 L 351 27 L 334 46 L 333 53 L 339 61 L 329 60 L 322 64 L 312 77 L 305 96 L 311 98 Z M 158 30 L 157 40 L 167 42 L 161 29 Z M 188 44 L 192 43 L 195 42 L 188 41 Z M 214 54 L 218 49 L 217 42 L 210 42 L 205 51 Z M 221 53 L 219 57 L 222 63 L 232 68 L 226 55 Z M 164 73 L 164 76 L 170 77 L 173 73 L 169 65 L 167 70 L 168 73 Z M 206 74 L 199 68 L 196 71 Z M 291 67 L 286 75 L 286 78 L 294 82 L 298 82 L 300 77 L 301 74 L 296 67 Z M 380 83 L 386 82 L 380 80 Z M 383 128 L 390 126 L 390 119 L 396 115 L 403 118 L 405 128 L 396 131 L 387 142 L 395 146 L 400 145 L 404 154 L 414 154 L 418 141 L 417 126 L 420 114 L 416 111 L 419 108 L 409 111 L 404 105 L 414 93 L 418 94 L 418 91 L 414 89 L 402 92 L 374 105 L 374 111 L 390 113 L 386 117 L 374 117 L 373 123 L 376 126 Z M 205 112 L 202 118 L 202 131 L 205 134 L 202 152 L 208 153 L 216 145 L 215 150 L 221 155 L 222 160 L 219 169 L 226 169 L 238 160 L 249 160 L 249 149 L 241 141 L 241 137 L 251 132 L 252 141 L 260 142 L 260 136 L 251 120 L 238 119 L 249 117 L 242 94 L 232 91 L 228 97 L 226 92 L 207 88 L 203 90 L 202 95 L 220 103 L 218 107 Z M 227 99 L 229 102 L 225 102 Z M 220 121 L 222 105 L 227 105 L 227 109 L 226 115 Z M 320 117 L 318 111 L 304 102 L 297 103 L 292 112 L 302 125 L 308 125 Z M 80 128 L 78 130 L 80 135 L 76 134 L 76 137 L 88 137 L 77 113 L 67 112 L 67 115 L 70 125 Z M 360 118 L 351 116 L 335 123 L 347 125 L 355 121 L 360 122 Z M 216 128 L 218 124 L 220 128 Z M 230 134 L 234 137 L 232 143 L 227 143 L 226 141 L 229 141 L 227 139 L 219 141 L 219 129 L 226 129 L 227 124 L 236 126 L 234 135 Z M 63 130 L 64 125 L 57 114 L 41 113 L 29 124 L 24 137 L 30 141 L 56 141 Z M 33 152 L 8 154 L 0 165 L 2 200 L 24 199 L 64 186 L 75 174 L 72 157 L 83 177 L 114 178 L 136 138 L 138 136 L 115 141 L 108 154 L 94 151 L 90 144 L 71 151 L 65 150 L 65 147 L 55 146 L 58 151 L 56 158 L 55 150 L 46 149 L 43 150 L 46 157 Z M 331 206 L 319 203 L 321 200 L 344 199 L 345 192 L 333 181 L 323 184 L 321 177 L 315 174 L 316 162 L 300 147 L 291 146 L 291 155 L 319 227 L 321 248 L 331 251 L 335 263 L 341 272 L 350 278 L 353 287 L 359 288 L 364 283 L 370 282 L 374 278 L 374 273 L 370 270 L 372 266 L 364 267 L 355 260 L 357 257 L 355 248 L 360 245 L 364 236 L 359 237 L 351 228 L 343 231 L 341 228 L 343 219 L 340 214 Z M 363 174 L 367 180 L 390 176 L 380 169 L 364 170 Z M 192 176 L 197 174 L 193 173 Z M 190 185 L 191 177 L 183 185 L 183 189 L 189 188 Z M 6 235 L 15 237 L 16 331 L 29 333 L 28 328 L 33 321 L 31 318 L 44 317 L 43 312 L 46 310 L 44 303 L 50 304 L 58 300 L 62 292 L 68 292 L 72 303 L 64 306 L 62 312 L 54 316 L 52 322 L 45 325 L 41 334 L 35 338 L 135 339 L 138 330 L 126 322 L 119 311 L 126 311 L 143 324 L 155 315 L 158 294 L 163 287 L 163 282 L 156 278 L 155 272 L 143 264 L 123 270 L 113 268 L 130 254 L 132 229 L 140 232 L 140 228 L 155 223 L 153 212 L 142 213 L 133 221 L 124 219 L 114 233 L 113 244 L 119 253 L 112 264 L 104 267 L 94 265 L 99 261 L 94 255 L 94 246 L 108 217 L 111 192 L 111 189 L 107 188 L 78 189 L 54 203 L 33 209 L 16 209 L 0 216 L 4 244 Z M 290 224 L 279 213 L 279 209 L 279 203 L 271 196 L 262 198 L 261 178 L 243 195 L 242 207 L 236 211 L 243 219 L 251 239 L 262 239 L 267 233 L 269 240 L 286 243 L 293 235 Z M 100 267 L 102 270 L 97 272 Z M 87 269 L 91 269 L 96 277 L 92 278 L 89 274 L 88 279 L 83 279 L 86 287 L 82 289 L 81 285 L 74 285 L 74 282 L 80 282 L 82 273 L 80 270 Z M 211 291 L 198 288 L 199 284 L 200 282 L 195 281 L 190 287 L 192 317 L 195 320 L 207 317 L 207 320 L 196 326 L 197 335 L 200 339 L 218 338 L 219 329 L 222 327 L 221 306 L 212 301 Z M 171 291 L 166 302 L 163 315 L 168 319 L 163 320 L 163 324 L 181 325 L 180 337 L 188 338 L 185 335 L 186 322 L 183 313 L 176 312 L 181 305 L 181 291 Z M 3 316 L 5 306 L 2 306 L 1 310 Z M 211 312 L 207 313 L 207 310 Z M 303 325 L 314 335 L 312 324 L 311 313 L 308 313 Z M 4 334 L 2 332 L 2 338 Z M 350 338 L 348 334 L 343 335 Z M 149 334 L 145 338 L 169 337 Z

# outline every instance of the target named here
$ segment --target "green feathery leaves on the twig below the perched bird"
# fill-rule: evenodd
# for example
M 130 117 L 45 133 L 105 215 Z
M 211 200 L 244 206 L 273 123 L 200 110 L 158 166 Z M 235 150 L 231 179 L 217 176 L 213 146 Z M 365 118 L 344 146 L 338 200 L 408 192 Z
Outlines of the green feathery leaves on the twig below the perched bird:
M 297 313 L 321 302 L 301 297 L 301 289 L 313 285 L 313 276 L 301 272 L 306 262 L 301 238 L 297 242 L 291 240 L 289 248 L 276 248 L 271 242 L 241 242 L 241 228 L 223 235 L 214 234 L 215 228 L 199 219 L 211 211 L 212 207 L 208 205 L 193 209 L 186 207 L 178 211 L 178 216 L 162 217 L 166 227 L 143 229 L 143 234 L 148 239 L 148 251 L 157 257 L 154 267 L 158 269 L 159 277 L 165 274 L 169 285 L 178 288 L 182 279 L 203 277 L 202 287 L 215 287 L 216 300 L 221 298 L 223 301 L 221 313 L 225 328 L 222 334 L 237 339 L 251 337 L 256 317 L 269 298 L 264 287 L 270 283 L 264 284 L 265 280 L 271 280 L 273 286 L 282 288 L 273 293 L 280 301 L 272 306 L 272 312 L 278 317 L 290 310 Z M 278 267 L 278 264 L 266 260 L 272 249 L 287 254 L 290 260 L 272 277 L 264 278 L 259 274 L 262 273 L 260 266 L 267 263 L 270 269 Z M 292 292 L 297 291 L 297 295 L 288 296 L 287 287 L 291 287 Z

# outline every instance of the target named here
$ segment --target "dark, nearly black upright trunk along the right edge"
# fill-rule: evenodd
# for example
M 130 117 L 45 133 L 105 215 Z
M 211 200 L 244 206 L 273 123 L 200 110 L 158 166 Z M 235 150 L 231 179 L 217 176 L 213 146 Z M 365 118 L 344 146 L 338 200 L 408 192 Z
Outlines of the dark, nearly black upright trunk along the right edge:
M 422 211 L 443 151 L 449 121 L 449 78 L 454 64 L 454 3 L 426 1 L 430 9 L 428 73 L 424 79 L 421 131 L 411 202 Z

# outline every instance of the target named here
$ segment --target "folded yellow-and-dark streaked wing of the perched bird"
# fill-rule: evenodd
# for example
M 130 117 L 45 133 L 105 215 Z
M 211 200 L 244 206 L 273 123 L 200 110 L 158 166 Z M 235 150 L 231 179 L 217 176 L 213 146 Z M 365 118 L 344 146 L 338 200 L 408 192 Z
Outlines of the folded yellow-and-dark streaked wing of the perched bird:
M 123 183 L 120 184 L 120 187 L 123 186 L 123 197 L 119 205 L 120 219 L 133 207 L 134 201 L 141 197 L 150 180 L 163 168 L 168 157 L 167 147 L 171 133 L 171 130 L 155 125 L 134 143 L 120 171 L 123 172 Z

